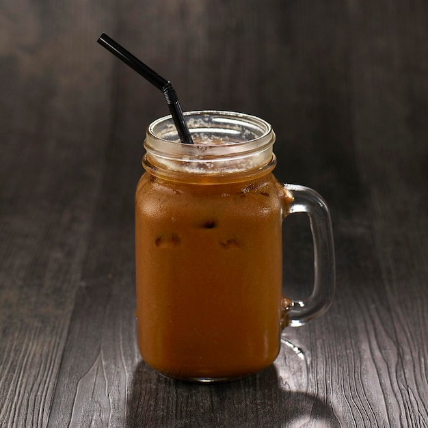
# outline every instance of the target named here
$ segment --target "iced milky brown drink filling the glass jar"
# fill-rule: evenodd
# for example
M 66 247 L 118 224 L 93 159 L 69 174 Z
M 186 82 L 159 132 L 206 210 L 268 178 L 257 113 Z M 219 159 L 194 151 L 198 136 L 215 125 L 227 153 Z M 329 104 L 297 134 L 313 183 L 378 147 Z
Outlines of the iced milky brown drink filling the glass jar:
M 170 377 L 235 379 L 269 366 L 291 304 L 281 225 L 293 196 L 271 173 L 274 134 L 254 131 L 258 122 L 243 130 L 228 114 L 226 132 L 201 131 L 196 146 L 158 141 L 159 124 L 146 139 L 135 197 L 137 334 L 146 363 Z M 234 130 L 260 141 L 245 151 Z

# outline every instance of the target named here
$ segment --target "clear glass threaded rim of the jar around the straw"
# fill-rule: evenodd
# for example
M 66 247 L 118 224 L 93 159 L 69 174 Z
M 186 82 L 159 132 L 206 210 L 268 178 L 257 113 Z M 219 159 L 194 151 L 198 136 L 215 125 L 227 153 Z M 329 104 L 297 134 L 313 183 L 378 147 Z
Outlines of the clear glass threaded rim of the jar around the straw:
M 184 113 L 195 144 L 180 142 L 172 116 L 152 122 L 144 148 L 152 165 L 176 172 L 222 174 L 255 170 L 272 159 L 276 136 L 257 116 L 234 111 Z

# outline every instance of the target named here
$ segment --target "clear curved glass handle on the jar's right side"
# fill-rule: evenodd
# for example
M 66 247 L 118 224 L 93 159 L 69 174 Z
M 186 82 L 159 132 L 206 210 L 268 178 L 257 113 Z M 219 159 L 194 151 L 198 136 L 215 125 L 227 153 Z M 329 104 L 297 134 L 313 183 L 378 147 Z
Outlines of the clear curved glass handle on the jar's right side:
M 284 297 L 282 325 L 298 327 L 317 318 L 330 307 L 334 296 L 335 266 L 332 222 L 327 204 L 319 193 L 301 185 L 284 185 L 287 193 L 284 218 L 293 213 L 307 213 L 314 242 L 314 288 L 302 301 Z M 290 202 L 291 201 L 291 202 Z

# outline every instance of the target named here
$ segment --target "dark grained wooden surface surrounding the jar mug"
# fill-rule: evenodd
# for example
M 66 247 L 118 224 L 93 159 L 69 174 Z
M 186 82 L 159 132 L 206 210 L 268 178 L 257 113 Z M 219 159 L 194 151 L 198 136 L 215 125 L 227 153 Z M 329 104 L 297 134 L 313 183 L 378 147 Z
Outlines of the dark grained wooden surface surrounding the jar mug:
M 161 93 L 260 116 L 276 176 L 330 206 L 336 295 L 238 382 L 165 379 L 135 340 L 133 203 Z M 0 4 L 1 427 L 428 427 L 428 3 Z M 284 222 L 284 289 L 312 280 Z

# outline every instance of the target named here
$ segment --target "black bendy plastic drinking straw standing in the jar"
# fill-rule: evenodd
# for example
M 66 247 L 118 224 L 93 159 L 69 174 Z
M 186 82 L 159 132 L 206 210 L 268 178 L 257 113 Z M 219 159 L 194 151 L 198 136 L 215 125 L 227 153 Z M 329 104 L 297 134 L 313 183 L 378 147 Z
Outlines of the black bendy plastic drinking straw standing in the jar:
M 97 42 L 163 92 L 172 115 L 172 120 L 174 120 L 178 136 L 180 137 L 180 141 L 186 144 L 193 144 L 193 139 L 191 139 L 189 128 L 187 127 L 183 116 L 183 110 L 180 107 L 180 103 L 178 103 L 177 94 L 170 81 L 163 79 L 163 77 L 159 76 L 157 72 L 146 66 L 144 62 L 141 62 L 132 53 L 126 51 L 124 47 L 109 38 L 107 34 L 101 34 Z

